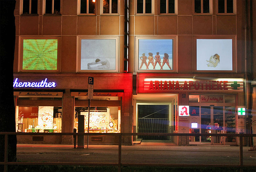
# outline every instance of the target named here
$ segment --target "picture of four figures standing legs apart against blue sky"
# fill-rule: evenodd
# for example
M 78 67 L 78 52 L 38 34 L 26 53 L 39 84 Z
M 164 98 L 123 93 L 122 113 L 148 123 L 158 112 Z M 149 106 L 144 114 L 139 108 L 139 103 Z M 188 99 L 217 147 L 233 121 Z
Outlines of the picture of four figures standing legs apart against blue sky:
M 173 70 L 173 39 L 139 39 L 138 70 Z

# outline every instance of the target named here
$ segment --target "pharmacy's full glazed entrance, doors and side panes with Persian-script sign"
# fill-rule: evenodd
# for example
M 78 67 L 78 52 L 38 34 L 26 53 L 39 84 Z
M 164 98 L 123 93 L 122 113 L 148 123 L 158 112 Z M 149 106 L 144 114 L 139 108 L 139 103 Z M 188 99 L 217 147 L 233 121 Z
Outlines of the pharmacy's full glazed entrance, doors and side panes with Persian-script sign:
M 221 103 L 205 103 L 202 97 L 206 96 L 213 97 L 211 95 L 189 96 L 189 114 L 200 119 L 197 128 L 190 127 L 190 133 L 236 133 L 235 95 L 215 95 L 214 97 L 223 97 Z M 236 137 L 191 136 L 189 144 L 235 145 Z

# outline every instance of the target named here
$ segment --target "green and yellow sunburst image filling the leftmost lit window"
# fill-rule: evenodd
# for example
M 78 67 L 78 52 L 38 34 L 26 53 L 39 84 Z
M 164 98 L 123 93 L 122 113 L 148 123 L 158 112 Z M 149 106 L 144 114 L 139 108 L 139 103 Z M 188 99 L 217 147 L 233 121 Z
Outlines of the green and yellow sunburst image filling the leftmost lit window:
M 57 70 L 58 39 L 23 39 L 23 70 Z

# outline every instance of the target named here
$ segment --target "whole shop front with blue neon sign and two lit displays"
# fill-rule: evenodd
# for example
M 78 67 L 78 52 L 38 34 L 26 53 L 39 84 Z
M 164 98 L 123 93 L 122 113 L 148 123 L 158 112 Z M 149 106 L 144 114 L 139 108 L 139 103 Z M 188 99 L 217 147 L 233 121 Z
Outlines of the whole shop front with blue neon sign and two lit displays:
M 17 132 L 78 132 L 78 116 L 84 116 L 84 132 L 132 132 L 132 75 L 94 74 L 93 98 L 88 121 L 88 74 L 50 74 L 47 78 L 28 74 L 14 77 Z M 124 81 L 129 81 L 123 84 Z M 112 85 L 106 83 L 113 83 Z M 124 116 L 128 114 L 128 116 Z M 86 138 L 86 137 L 85 137 Z M 22 136 L 18 143 L 72 144 L 72 136 Z M 87 138 L 86 138 L 87 139 Z M 87 141 L 85 139 L 85 142 Z M 89 144 L 118 144 L 118 137 L 89 137 Z M 131 145 L 127 136 L 124 144 Z

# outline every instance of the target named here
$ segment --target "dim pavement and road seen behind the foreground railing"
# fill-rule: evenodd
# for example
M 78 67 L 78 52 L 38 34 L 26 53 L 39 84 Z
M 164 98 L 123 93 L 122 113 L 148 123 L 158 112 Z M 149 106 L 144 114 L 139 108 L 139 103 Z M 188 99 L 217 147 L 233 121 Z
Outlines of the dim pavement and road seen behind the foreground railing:
M 256 151 L 243 147 L 244 165 L 255 165 Z M 18 161 L 117 163 L 117 145 L 17 144 Z M 239 165 L 239 146 L 173 146 L 161 142 L 141 142 L 122 146 L 122 163 L 224 164 Z

